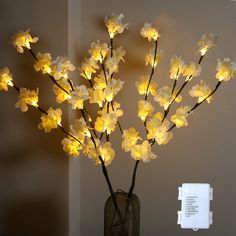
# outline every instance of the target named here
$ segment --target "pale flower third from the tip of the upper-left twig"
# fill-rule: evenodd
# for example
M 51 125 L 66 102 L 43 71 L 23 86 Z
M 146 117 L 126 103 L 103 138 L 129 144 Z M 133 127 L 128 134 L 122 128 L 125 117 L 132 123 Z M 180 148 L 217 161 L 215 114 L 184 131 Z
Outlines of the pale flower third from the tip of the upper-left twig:
M 68 79 L 69 71 L 74 71 L 75 67 L 66 57 L 57 57 L 55 61 L 52 62 L 51 75 L 55 80 L 62 78 Z

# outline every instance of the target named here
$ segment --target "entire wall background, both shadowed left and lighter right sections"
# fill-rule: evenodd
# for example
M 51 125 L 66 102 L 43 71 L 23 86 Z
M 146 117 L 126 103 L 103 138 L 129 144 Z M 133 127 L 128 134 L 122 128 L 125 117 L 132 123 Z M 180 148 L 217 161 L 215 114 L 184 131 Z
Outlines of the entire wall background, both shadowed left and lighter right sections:
M 155 77 L 159 86 L 170 82 L 167 70 L 171 55 L 196 60 L 196 42 L 202 33 L 219 36 L 217 47 L 204 61 L 202 79 L 213 85 L 217 58 L 235 59 L 236 3 L 228 0 L 1 0 L 0 9 L 0 66 L 12 68 L 20 86 L 40 87 L 42 97 L 47 98 L 42 100 L 44 107 L 54 104 L 48 81 L 34 72 L 30 55 L 17 54 L 7 44 L 12 33 L 31 28 L 40 37 L 35 50 L 50 51 L 53 56 L 69 54 L 79 66 L 92 41 L 107 40 L 104 16 L 124 13 L 129 31 L 115 41 L 116 46 L 122 44 L 127 50 L 119 74 L 125 81 L 118 97 L 126 111 L 121 123 L 125 128 L 135 126 L 143 134 L 136 117 L 140 97 L 134 82 L 147 73 L 143 55 L 150 45 L 139 36 L 144 22 L 155 22 L 163 35 L 160 48 L 165 57 Z M 170 144 L 154 148 L 157 160 L 140 165 L 135 192 L 141 201 L 141 235 L 235 233 L 235 86 L 235 81 L 222 86 L 213 103 L 203 105 L 189 119 L 188 128 L 176 129 Z M 33 109 L 21 113 L 14 108 L 15 101 L 14 91 L 0 93 L 0 235 L 68 235 L 68 186 L 69 235 L 102 235 L 103 206 L 109 193 L 101 168 L 80 158 L 69 161 L 68 173 L 60 145 L 63 135 L 37 130 L 39 113 Z M 185 102 L 193 104 L 190 98 Z M 66 110 L 64 114 L 66 119 Z M 75 115 L 69 114 L 70 118 Z M 114 189 L 127 190 L 134 161 L 120 150 L 119 132 L 112 136 L 112 142 L 116 159 L 108 167 L 109 174 Z M 193 233 L 176 225 L 180 208 L 177 188 L 183 182 L 209 182 L 214 187 L 214 224 L 210 230 Z

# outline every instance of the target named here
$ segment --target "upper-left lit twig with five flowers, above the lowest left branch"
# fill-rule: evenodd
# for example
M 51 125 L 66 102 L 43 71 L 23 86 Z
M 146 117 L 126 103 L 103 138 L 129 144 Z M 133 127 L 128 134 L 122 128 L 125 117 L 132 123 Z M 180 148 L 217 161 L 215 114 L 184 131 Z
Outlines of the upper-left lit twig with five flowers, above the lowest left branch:
M 24 38 L 24 40 L 18 40 L 18 37 Z M 26 32 L 15 34 L 12 37 L 12 43 L 16 48 L 27 48 L 35 59 L 35 70 L 41 71 L 42 74 L 47 74 L 49 76 L 54 83 L 53 92 L 56 96 L 56 101 L 62 103 L 67 100 L 68 103 L 72 105 L 72 109 L 80 109 L 82 116 L 86 120 L 83 101 L 88 99 L 87 88 L 84 85 L 76 86 L 76 88 L 74 88 L 72 81 L 69 79 L 69 71 L 73 71 L 75 67 L 65 57 L 57 57 L 57 59 L 53 61 L 50 53 L 38 52 L 36 55 L 30 46 L 30 43 L 35 42 L 35 40 L 32 41 L 31 39 L 32 37 L 29 35 L 29 30 L 27 30 Z M 22 53 L 23 52 L 24 50 Z M 93 127 L 90 116 L 88 119 Z M 93 133 L 97 136 L 94 129 Z

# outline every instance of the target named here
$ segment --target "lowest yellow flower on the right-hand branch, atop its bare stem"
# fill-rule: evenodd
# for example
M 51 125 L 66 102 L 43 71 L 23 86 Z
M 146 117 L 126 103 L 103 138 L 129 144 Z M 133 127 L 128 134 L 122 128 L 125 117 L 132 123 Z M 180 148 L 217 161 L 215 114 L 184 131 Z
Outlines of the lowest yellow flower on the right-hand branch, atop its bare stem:
M 131 148 L 131 157 L 134 160 L 142 160 L 143 162 L 149 162 L 152 159 L 156 159 L 157 156 L 151 151 L 151 146 L 147 140 L 142 144 L 136 144 Z

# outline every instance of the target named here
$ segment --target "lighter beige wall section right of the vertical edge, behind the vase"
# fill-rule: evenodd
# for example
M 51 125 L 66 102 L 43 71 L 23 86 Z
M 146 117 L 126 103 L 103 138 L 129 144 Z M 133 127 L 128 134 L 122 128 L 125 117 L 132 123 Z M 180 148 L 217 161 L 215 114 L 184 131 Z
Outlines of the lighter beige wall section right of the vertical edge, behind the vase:
M 127 50 L 126 63 L 121 67 L 120 79 L 125 88 L 118 97 L 125 116 L 121 118 L 123 127 L 135 126 L 144 134 L 142 124 L 136 117 L 137 95 L 134 82 L 147 73 L 143 56 L 150 45 L 141 39 L 139 29 L 144 22 L 154 22 L 161 32 L 160 48 L 165 51 L 160 64 L 159 86 L 170 83 L 168 66 L 171 55 L 181 55 L 186 60 L 197 60 L 197 41 L 206 32 L 219 36 L 217 47 L 212 49 L 203 63 L 200 79 L 215 84 L 214 73 L 218 58 L 235 56 L 236 3 L 228 0 L 84 0 L 81 1 L 80 21 L 82 47 L 80 56 L 88 56 L 86 50 L 97 39 L 107 40 L 103 18 L 112 12 L 124 13 L 130 22 L 129 30 L 115 39 L 115 45 L 122 44 Z M 81 41 L 80 41 L 81 43 Z M 222 86 L 214 96 L 211 105 L 202 105 L 191 118 L 189 127 L 174 130 L 174 139 L 166 146 L 153 150 L 158 159 L 141 164 L 138 170 L 135 192 L 141 201 L 142 236 L 190 236 L 190 235 L 234 235 L 236 232 L 234 210 L 235 179 L 235 88 L 230 81 Z M 191 86 L 190 86 L 191 87 Z M 189 88 L 190 88 L 189 87 Z M 185 99 L 192 105 L 194 100 Z M 116 149 L 116 159 L 108 167 L 114 188 L 127 190 L 131 180 L 134 161 L 130 155 L 120 150 L 120 134 L 112 136 Z M 81 170 L 80 202 L 71 202 L 80 208 L 80 225 L 72 224 L 71 236 L 98 236 L 103 232 L 103 206 L 108 197 L 101 169 L 90 160 L 81 158 L 73 162 Z M 77 170 L 75 170 L 77 171 Z M 75 185 L 73 187 L 73 183 Z M 78 182 L 71 179 L 72 192 Z M 177 226 L 177 188 L 183 182 L 209 182 L 215 190 L 212 210 L 214 224 L 208 231 L 193 232 L 181 230 Z M 76 217 L 74 215 L 74 217 Z M 77 216 L 78 217 L 78 216 Z M 74 220 L 76 222 L 76 220 Z M 77 230 L 75 228 L 77 227 Z M 76 231 L 76 232 L 75 232 Z

